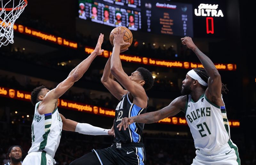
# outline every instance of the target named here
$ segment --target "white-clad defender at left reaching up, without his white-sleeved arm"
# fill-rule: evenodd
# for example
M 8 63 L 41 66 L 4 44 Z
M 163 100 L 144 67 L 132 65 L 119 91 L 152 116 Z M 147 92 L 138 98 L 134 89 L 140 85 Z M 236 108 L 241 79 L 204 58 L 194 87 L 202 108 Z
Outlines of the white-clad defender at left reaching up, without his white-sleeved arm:
M 89 68 L 93 59 L 100 55 L 104 35 L 100 34 L 92 54 L 76 66 L 66 80 L 49 90 L 44 86 L 35 88 L 31 93 L 31 102 L 35 106 L 32 122 L 32 146 L 23 165 L 54 164 L 54 155 L 60 143 L 62 121 L 58 111 L 58 98 L 62 96 Z

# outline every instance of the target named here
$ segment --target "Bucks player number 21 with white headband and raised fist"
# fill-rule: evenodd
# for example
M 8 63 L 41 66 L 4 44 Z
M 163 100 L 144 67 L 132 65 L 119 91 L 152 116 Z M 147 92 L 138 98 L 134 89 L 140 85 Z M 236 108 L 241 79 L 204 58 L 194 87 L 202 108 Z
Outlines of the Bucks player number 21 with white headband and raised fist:
M 155 112 L 124 118 L 117 127 L 127 128 L 134 122 L 153 123 L 183 111 L 194 138 L 196 158 L 193 165 L 240 165 L 236 145 L 230 139 L 229 124 L 222 93 L 227 88 L 212 61 L 202 53 L 190 37 L 182 44 L 193 50 L 204 68 L 190 70 L 182 82 L 181 94 L 169 106 Z

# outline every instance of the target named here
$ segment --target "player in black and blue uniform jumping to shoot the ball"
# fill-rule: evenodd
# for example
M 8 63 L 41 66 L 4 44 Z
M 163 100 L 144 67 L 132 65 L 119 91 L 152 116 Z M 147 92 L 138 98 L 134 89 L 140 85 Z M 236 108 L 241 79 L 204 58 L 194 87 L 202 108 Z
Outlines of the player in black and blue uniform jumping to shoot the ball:
M 85 154 L 71 162 L 70 165 L 143 165 L 146 163 L 145 148 L 141 137 L 144 124 L 133 123 L 127 130 L 122 129 L 121 131 L 116 128 L 123 117 L 146 113 L 148 108 L 146 90 L 149 90 L 154 83 L 151 73 L 145 68 L 138 68 L 131 76 L 124 72 L 119 54 L 120 47 L 129 44 L 124 42 L 125 32 L 125 30 L 121 32 L 121 28 L 117 28 L 117 33 L 114 34 L 113 52 L 101 78 L 101 82 L 110 93 L 120 100 L 116 107 L 114 120 L 115 143 L 105 149 L 93 149 L 91 153 Z M 113 80 L 113 76 L 125 89 Z

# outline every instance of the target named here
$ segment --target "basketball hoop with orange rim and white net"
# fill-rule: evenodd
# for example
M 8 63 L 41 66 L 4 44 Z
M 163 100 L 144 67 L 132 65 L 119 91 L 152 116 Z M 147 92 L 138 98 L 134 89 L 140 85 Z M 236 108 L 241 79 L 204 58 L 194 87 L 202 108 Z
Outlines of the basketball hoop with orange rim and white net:
M 27 4 L 27 0 L 0 0 L 0 47 L 13 43 L 14 22 Z

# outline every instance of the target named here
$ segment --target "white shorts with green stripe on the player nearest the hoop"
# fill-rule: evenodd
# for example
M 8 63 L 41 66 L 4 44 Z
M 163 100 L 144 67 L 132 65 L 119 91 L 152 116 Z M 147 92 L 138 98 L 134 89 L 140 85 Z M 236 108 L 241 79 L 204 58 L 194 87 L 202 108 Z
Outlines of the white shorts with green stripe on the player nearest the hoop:
M 53 165 L 55 160 L 44 152 L 29 153 L 22 162 L 22 165 Z

